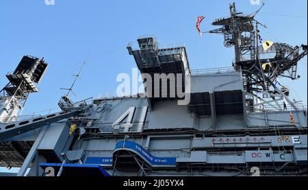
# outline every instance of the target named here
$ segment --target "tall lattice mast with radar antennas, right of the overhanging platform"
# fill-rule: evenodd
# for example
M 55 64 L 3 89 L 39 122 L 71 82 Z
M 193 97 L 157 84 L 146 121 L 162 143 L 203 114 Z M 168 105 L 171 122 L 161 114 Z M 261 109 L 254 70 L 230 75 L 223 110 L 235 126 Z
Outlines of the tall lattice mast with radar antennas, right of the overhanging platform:
M 264 4 L 261 8 L 263 6 Z M 278 101 L 287 99 L 287 102 L 296 109 L 294 102 L 287 98 L 289 89 L 282 85 L 277 86 L 277 78 L 291 78 L 292 80 L 299 78 L 296 74 L 297 64 L 307 55 L 307 45 L 292 47 L 285 43 L 274 43 L 265 51 L 264 47 L 259 45 L 261 36 L 258 27 L 259 25 L 266 26 L 255 20 L 255 15 L 259 10 L 253 14 L 244 15 L 242 12 L 237 12 L 235 3 L 232 3 L 230 4 L 230 17 L 216 19 L 212 23 L 212 25 L 222 27 L 205 33 L 222 34 L 224 35 L 224 46 L 234 47 L 233 67 L 242 69 L 247 108 L 254 110 L 255 106 L 274 102 L 278 109 L 283 109 Z M 272 54 L 275 55 L 272 56 Z

